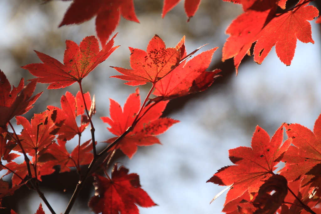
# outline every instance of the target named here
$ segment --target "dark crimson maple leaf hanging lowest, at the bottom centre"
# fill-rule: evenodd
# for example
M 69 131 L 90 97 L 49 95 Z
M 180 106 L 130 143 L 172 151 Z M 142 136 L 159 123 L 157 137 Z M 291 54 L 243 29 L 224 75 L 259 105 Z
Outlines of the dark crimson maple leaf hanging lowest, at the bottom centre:
M 117 164 L 115 164 L 111 172 L 111 179 L 94 175 L 95 196 L 88 202 L 88 206 L 94 213 L 138 214 L 136 204 L 141 207 L 157 205 L 141 188 L 139 175 L 128 174 L 128 171 L 123 166 L 117 169 Z

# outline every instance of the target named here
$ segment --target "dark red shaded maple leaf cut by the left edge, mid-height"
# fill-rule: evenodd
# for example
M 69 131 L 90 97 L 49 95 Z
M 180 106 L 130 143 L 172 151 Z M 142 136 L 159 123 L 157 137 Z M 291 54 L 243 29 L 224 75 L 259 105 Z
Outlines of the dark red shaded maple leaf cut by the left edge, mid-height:
M 24 86 L 23 78 L 18 87 L 11 90 L 11 85 L 5 74 L 0 70 L 0 127 L 6 128 L 7 123 L 17 115 L 28 112 L 42 92 L 32 97 L 36 81 Z

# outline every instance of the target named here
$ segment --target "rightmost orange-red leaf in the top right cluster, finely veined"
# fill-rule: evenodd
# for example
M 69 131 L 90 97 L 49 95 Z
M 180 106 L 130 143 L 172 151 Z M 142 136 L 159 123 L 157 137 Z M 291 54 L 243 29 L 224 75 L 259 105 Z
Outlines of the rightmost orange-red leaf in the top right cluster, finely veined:
M 256 63 L 261 64 L 275 45 L 276 54 L 281 62 L 290 65 L 297 39 L 314 44 L 311 25 L 307 20 L 313 20 L 319 15 L 319 11 L 316 7 L 307 6 L 307 4 L 301 4 L 287 13 L 276 14 L 276 17 L 261 30 L 254 47 Z

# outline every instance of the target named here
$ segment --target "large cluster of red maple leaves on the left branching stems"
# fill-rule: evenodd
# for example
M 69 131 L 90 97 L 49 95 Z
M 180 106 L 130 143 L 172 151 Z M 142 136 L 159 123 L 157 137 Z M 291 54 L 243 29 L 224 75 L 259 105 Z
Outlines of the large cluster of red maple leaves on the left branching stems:
M 70 168 L 76 167 L 81 173 L 80 166 L 90 164 L 94 160 L 91 150 L 96 142 L 90 139 L 81 143 L 81 135 L 95 114 L 95 101 L 91 100 L 89 92 L 82 92 L 81 81 L 117 48 L 113 47 L 113 39 L 102 50 L 99 49 L 98 40 L 94 36 L 84 38 L 79 46 L 67 40 L 64 64 L 36 51 L 43 63 L 22 67 L 38 77 L 25 87 L 22 80 L 17 88 L 13 87 L 11 90 L 4 73 L 0 73 L 0 108 L 3 108 L 6 114 L 1 118 L 0 151 L 1 159 L 7 161 L 5 165 L 1 163 L 0 167 L 1 170 L 7 170 L 5 175 L 13 173 L 12 188 L 9 188 L 7 182 L 0 180 L 0 200 L 13 194 L 20 186 L 29 185 L 30 180 L 41 181 L 41 176 L 52 174 L 55 166 L 60 166 L 60 172 L 68 172 Z M 110 117 L 101 119 L 110 125 L 108 131 L 118 137 L 105 142 L 113 143 L 118 138 L 120 140 L 110 148 L 107 147 L 109 152 L 120 149 L 132 158 L 137 146 L 160 144 L 156 136 L 179 122 L 160 117 L 169 99 L 203 91 L 219 76 L 217 73 L 220 70 L 205 71 L 217 48 L 204 51 L 186 62 L 198 49 L 187 55 L 184 43 L 185 37 L 175 48 L 166 48 L 160 37 L 155 35 L 148 44 L 147 52 L 130 48 L 133 69 L 115 67 L 124 75 L 114 77 L 129 81 L 125 84 L 141 85 L 151 82 L 152 89 L 141 104 L 137 88 L 135 93 L 127 98 L 123 109 L 116 101 L 110 99 Z M 50 83 L 48 89 L 64 88 L 78 82 L 81 91 L 76 96 L 67 91 L 61 97 L 61 107 L 47 106 L 46 111 L 35 114 L 29 122 L 25 117 L 18 115 L 26 113 L 40 96 L 41 93 L 32 97 L 37 82 Z M 157 97 L 147 103 L 152 92 Z M 20 134 L 14 132 L 9 122 L 14 116 L 17 125 L 23 127 Z M 81 117 L 80 125 L 76 122 L 78 116 Z M 13 133 L 8 130 L 8 125 Z M 66 143 L 75 136 L 78 136 L 79 143 L 69 153 Z M 21 164 L 14 162 L 13 160 L 20 155 L 12 151 L 22 153 L 25 161 Z M 28 160 L 27 155 L 31 160 Z M 111 178 L 106 172 L 107 178 L 94 175 L 96 194 L 89 201 L 89 207 L 95 213 L 138 213 L 135 204 L 141 207 L 156 205 L 140 188 L 139 176 L 128 174 L 128 171 L 125 167 L 117 169 L 115 165 Z M 42 212 L 40 205 L 37 214 Z

